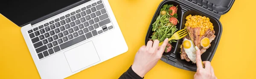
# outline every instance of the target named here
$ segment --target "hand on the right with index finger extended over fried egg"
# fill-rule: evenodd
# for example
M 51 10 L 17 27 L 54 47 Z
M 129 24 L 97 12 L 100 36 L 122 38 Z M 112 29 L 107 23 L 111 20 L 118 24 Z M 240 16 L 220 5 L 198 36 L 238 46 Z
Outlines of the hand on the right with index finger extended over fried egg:
M 194 75 L 194 79 L 217 79 L 217 77 L 214 75 L 213 68 L 211 66 L 211 63 L 209 61 L 204 61 L 203 68 L 202 62 L 201 62 L 201 53 L 200 50 L 196 51 L 196 65 L 197 65 L 197 71 Z

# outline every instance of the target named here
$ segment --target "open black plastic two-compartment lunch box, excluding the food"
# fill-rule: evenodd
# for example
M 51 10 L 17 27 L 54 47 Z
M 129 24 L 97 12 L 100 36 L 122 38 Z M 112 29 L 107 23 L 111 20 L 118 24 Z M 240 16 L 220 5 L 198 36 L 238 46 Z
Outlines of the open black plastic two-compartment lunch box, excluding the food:
M 201 15 L 209 17 L 210 22 L 214 26 L 215 31 L 215 40 L 211 42 L 211 47 L 207 49 L 204 54 L 201 55 L 203 61 L 211 61 L 215 51 L 218 47 L 218 43 L 221 38 L 222 25 L 219 21 L 219 18 L 222 14 L 226 14 L 235 0 L 163 0 L 157 8 L 151 23 L 148 27 L 148 31 L 145 37 L 145 45 L 149 41 L 152 35 L 152 24 L 156 21 L 157 17 L 160 14 L 160 8 L 165 4 L 173 4 L 178 6 L 177 20 L 179 23 L 176 25 L 177 29 L 183 29 L 186 23 L 186 16 L 189 14 Z M 177 68 L 181 68 L 188 71 L 196 71 L 196 64 L 193 64 L 191 61 L 186 62 L 186 60 L 180 59 L 180 45 L 183 40 L 177 40 L 177 42 L 172 42 L 172 50 L 168 53 L 163 53 L 161 60 Z

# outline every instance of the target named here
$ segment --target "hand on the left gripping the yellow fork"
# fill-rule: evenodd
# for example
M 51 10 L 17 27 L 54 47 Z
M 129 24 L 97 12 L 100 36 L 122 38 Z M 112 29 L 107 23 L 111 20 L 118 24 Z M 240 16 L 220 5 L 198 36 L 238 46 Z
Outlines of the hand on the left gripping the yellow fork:
M 132 70 L 140 77 L 145 76 L 162 57 L 167 43 L 168 39 L 166 38 L 161 46 L 159 46 L 159 40 L 154 40 L 154 43 L 148 41 L 147 46 L 144 45 L 140 47 L 135 55 L 134 63 L 131 66 Z

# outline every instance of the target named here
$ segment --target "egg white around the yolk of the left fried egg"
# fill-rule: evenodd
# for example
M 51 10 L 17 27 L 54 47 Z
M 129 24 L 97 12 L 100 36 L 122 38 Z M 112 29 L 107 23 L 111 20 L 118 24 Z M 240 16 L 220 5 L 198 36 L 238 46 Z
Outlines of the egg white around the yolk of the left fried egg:
M 184 42 L 185 40 L 188 40 L 188 39 L 185 38 L 185 39 L 183 40 L 183 42 Z M 194 45 L 193 45 L 193 43 L 192 43 L 191 40 L 188 40 L 188 41 L 191 43 L 190 48 L 184 48 L 184 46 L 183 46 L 183 49 L 184 49 L 184 51 L 186 52 L 186 54 L 188 55 L 189 59 L 190 59 L 193 63 L 195 63 L 195 60 L 196 60 L 196 50 L 195 50 L 195 48 L 196 48 L 196 49 L 199 49 L 199 48 L 198 48 L 197 46 L 194 47 Z

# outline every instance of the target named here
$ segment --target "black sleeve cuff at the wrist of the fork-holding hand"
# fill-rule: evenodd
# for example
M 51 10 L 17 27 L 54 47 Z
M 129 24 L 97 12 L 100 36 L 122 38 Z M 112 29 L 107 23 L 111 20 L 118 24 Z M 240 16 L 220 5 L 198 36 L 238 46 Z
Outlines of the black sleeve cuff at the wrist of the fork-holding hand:
M 123 73 L 119 79 L 144 79 L 141 78 L 137 73 L 135 73 L 132 69 L 131 69 L 131 66 L 130 68 L 125 72 Z

